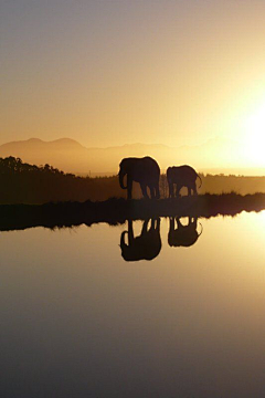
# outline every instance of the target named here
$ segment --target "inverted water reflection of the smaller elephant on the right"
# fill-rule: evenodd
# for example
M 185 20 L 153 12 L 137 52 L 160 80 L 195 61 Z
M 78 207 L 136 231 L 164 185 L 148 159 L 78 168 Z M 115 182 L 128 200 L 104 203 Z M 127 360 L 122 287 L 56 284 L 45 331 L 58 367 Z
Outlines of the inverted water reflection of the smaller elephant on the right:
M 169 245 L 176 248 L 179 247 L 189 248 L 192 244 L 194 244 L 198 238 L 200 237 L 200 234 L 202 233 L 202 229 L 200 233 L 197 232 L 197 220 L 198 220 L 197 217 L 193 218 L 193 221 L 192 221 L 192 217 L 189 217 L 188 226 L 183 226 L 180 222 L 179 217 L 177 217 L 176 218 L 177 229 L 174 229 L 174 217 L 170 218 L 170 228 L 168 233 Z

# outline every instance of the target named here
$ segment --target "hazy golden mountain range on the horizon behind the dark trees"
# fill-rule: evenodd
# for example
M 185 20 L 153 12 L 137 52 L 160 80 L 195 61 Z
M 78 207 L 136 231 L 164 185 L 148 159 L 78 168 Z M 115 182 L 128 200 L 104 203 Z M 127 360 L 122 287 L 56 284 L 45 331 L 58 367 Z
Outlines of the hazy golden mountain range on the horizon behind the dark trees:
M 223 138 L 213 138 L 200 146 L 176 148 L 161 144 L 86 148 L 70 138 L 52 142 L 31 138 L 1 145 L 0 157 L 15 156 L 30 164 L 50 164 L 67 172 L 92 176 L 117 174 L 121 158 L 146 155 L 155 157 L 162 170 L 168 166 L 189 164 L 201 171 L 261 174 L 258 170 L 250 172 L 250 169 L 245 169 L 236 148 L 236 142 Z

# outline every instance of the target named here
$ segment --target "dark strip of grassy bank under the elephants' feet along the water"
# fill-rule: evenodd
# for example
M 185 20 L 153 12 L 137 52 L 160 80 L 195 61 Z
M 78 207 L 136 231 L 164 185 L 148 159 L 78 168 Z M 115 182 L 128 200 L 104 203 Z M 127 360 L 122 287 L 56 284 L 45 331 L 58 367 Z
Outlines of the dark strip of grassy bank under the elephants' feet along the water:
M 126 220 L 146 220 L 158 217 L 236 216 L 245 211 L 265 209 L 265 193 L 199 195 L 178 199 L 147 200 L 108 199 L 106 201 L 60 202 L 46 205 L 0 206 L 0 231 L 33 227 L 63 228 L 85 223 L 107 222 L 112 226 Z

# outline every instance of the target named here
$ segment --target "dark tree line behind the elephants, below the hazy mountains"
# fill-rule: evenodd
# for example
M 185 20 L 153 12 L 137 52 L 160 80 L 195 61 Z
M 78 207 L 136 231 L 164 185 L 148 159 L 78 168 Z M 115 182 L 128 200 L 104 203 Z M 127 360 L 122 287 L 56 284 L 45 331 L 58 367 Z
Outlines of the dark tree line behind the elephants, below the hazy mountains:
M 242 195 L 265 192 L 265 177 L 202 175 L 199 193 L 223 193 L 235 191 Z M 166 175 L 160 176 L 161 198 L 168 197 Z M 186 189 L 181 193 L 187 195 Z M 35 166 L 20 158 L 0 158 L 0 203 L 45 203 L 57 201 L 107 200 L 125 198 L 118 176 L 78 177 L 65 174 L 50 165 Z M 134 197 L 140 198 L 138 184 L 134 185 Z

